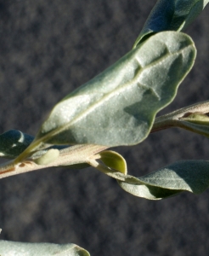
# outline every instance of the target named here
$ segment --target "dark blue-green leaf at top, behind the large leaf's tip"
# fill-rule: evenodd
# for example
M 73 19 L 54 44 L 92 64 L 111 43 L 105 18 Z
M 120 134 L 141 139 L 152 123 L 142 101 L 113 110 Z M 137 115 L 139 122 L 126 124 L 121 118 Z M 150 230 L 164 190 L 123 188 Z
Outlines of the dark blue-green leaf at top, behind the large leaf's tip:
M 208 2 L 209 0 L 158 0 L 133 48 L 156 32 L 184 30 Z

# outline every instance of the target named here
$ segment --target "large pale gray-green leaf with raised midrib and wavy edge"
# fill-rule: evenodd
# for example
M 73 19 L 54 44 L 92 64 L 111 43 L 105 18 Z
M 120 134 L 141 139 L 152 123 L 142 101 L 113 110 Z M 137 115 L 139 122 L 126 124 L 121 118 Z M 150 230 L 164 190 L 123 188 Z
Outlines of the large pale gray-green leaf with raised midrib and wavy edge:
M 42 142 L 109 147 L 140 143 L 194 61 L 189 36 L 156 34 L 59 102 L 28 152 Z

